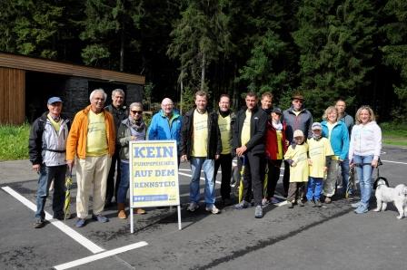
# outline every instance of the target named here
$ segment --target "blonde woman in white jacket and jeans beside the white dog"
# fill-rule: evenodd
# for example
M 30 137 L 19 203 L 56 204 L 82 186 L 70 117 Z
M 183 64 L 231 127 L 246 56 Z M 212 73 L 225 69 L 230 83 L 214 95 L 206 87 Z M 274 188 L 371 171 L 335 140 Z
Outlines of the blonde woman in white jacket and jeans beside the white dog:
M 378 165 L 382 150 L 382 130 L 377 125 L 374 112 L 369 106 L 362 106 L 355 115 L 356 125 L 352 128 L 349 163 L 356 167 L 361 200 L 352 204 L 356 214 L 366 213 L 372 194 L 372 171 Z

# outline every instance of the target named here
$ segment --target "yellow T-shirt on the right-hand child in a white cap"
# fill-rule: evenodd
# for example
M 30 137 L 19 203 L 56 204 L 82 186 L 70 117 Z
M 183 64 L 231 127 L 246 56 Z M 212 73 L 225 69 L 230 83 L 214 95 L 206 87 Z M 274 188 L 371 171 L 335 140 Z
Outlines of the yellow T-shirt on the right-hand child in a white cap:
M 310 177 L 323 178 L 324 168 L 326 167 L 326 157 L 333 155 L 331 143 L 326 138 L 315 140 L 313 138 L 308 141 L 310 159 Z

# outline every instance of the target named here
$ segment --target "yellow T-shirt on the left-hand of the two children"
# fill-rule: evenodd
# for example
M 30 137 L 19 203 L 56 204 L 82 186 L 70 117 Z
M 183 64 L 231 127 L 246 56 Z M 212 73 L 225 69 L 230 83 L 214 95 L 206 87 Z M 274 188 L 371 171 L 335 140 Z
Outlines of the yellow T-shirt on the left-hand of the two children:
M 304 142 L 302 145 L 296 145 L 287 149 L 284 159 L 293 159 L 296 165 L 290 167 L 290 182 L 308 182 L 308 144 Z

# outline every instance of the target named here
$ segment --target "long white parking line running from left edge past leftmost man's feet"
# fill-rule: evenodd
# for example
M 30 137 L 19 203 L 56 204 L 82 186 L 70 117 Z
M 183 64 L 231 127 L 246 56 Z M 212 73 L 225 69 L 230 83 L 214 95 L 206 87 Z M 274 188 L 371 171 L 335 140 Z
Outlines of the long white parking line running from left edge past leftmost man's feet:
M 3 187 L 5 192 L 19 200 L 21 203 L 23 203 L 26 207 L 30 208 L 33 211 L 36 211 L 36 206 L 34 203 L 29 201 L 27 198 L 21 196 L 13 188 L 10 187 Z M 59 228 L 61 231 L 63 231 L 67 236 L 72 237 L 76 242 L 81 244 L 82 246 L 86 247 L 88 250 L 90 250 L 92 253 L 99 253 L 104 251 L 104 248 L 97 246 L 94 244 L 92 241 L 87 239 L 86 237 L 82 236 L 78 232 L 76 232 L 73 228 L 68 227 L 65 225 L 64 222 L 59 221 L 57 219 L 54 219 L 49 213 L 45 212 L 45 219 L 50 221 L 52 225 L 55 227 Z

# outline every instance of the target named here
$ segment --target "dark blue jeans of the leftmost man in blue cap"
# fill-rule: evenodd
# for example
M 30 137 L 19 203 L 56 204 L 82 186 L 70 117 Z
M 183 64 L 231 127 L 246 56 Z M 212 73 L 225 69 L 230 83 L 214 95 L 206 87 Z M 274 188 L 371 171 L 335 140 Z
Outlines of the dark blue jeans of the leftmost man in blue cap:
M 36 190 L 36 212 L 35 218 L 45 219 L 45 201 L 48 197 L 49 186 L 54 179 L 53 213 L 54 217 L 64 215 L 65 204 L 65 174 L 66 165 L 40 168 L 40 178 Z

